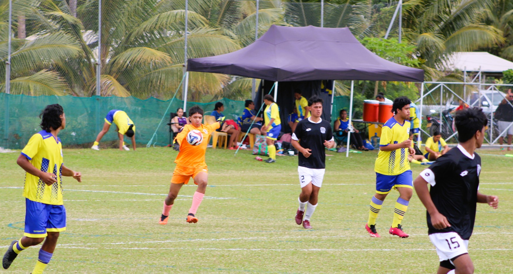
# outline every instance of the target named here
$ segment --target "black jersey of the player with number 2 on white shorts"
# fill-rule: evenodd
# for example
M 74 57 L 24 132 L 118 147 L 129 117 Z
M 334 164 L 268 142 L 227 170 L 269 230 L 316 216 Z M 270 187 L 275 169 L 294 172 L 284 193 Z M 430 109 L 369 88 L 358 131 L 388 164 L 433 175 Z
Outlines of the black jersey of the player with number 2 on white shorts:
M 333 141 L 333 131 L 328 121 L 322 120 L 314 123 L 307 119 L 301 120 L 294 133 L 292 139 L 299 141 L 304 148 L 311 149 L 308 158 L 299 153 L 299 166 L 305 168 L 323 169 L 326 168 L 326 152 L 324 151 L 324 141 Z

